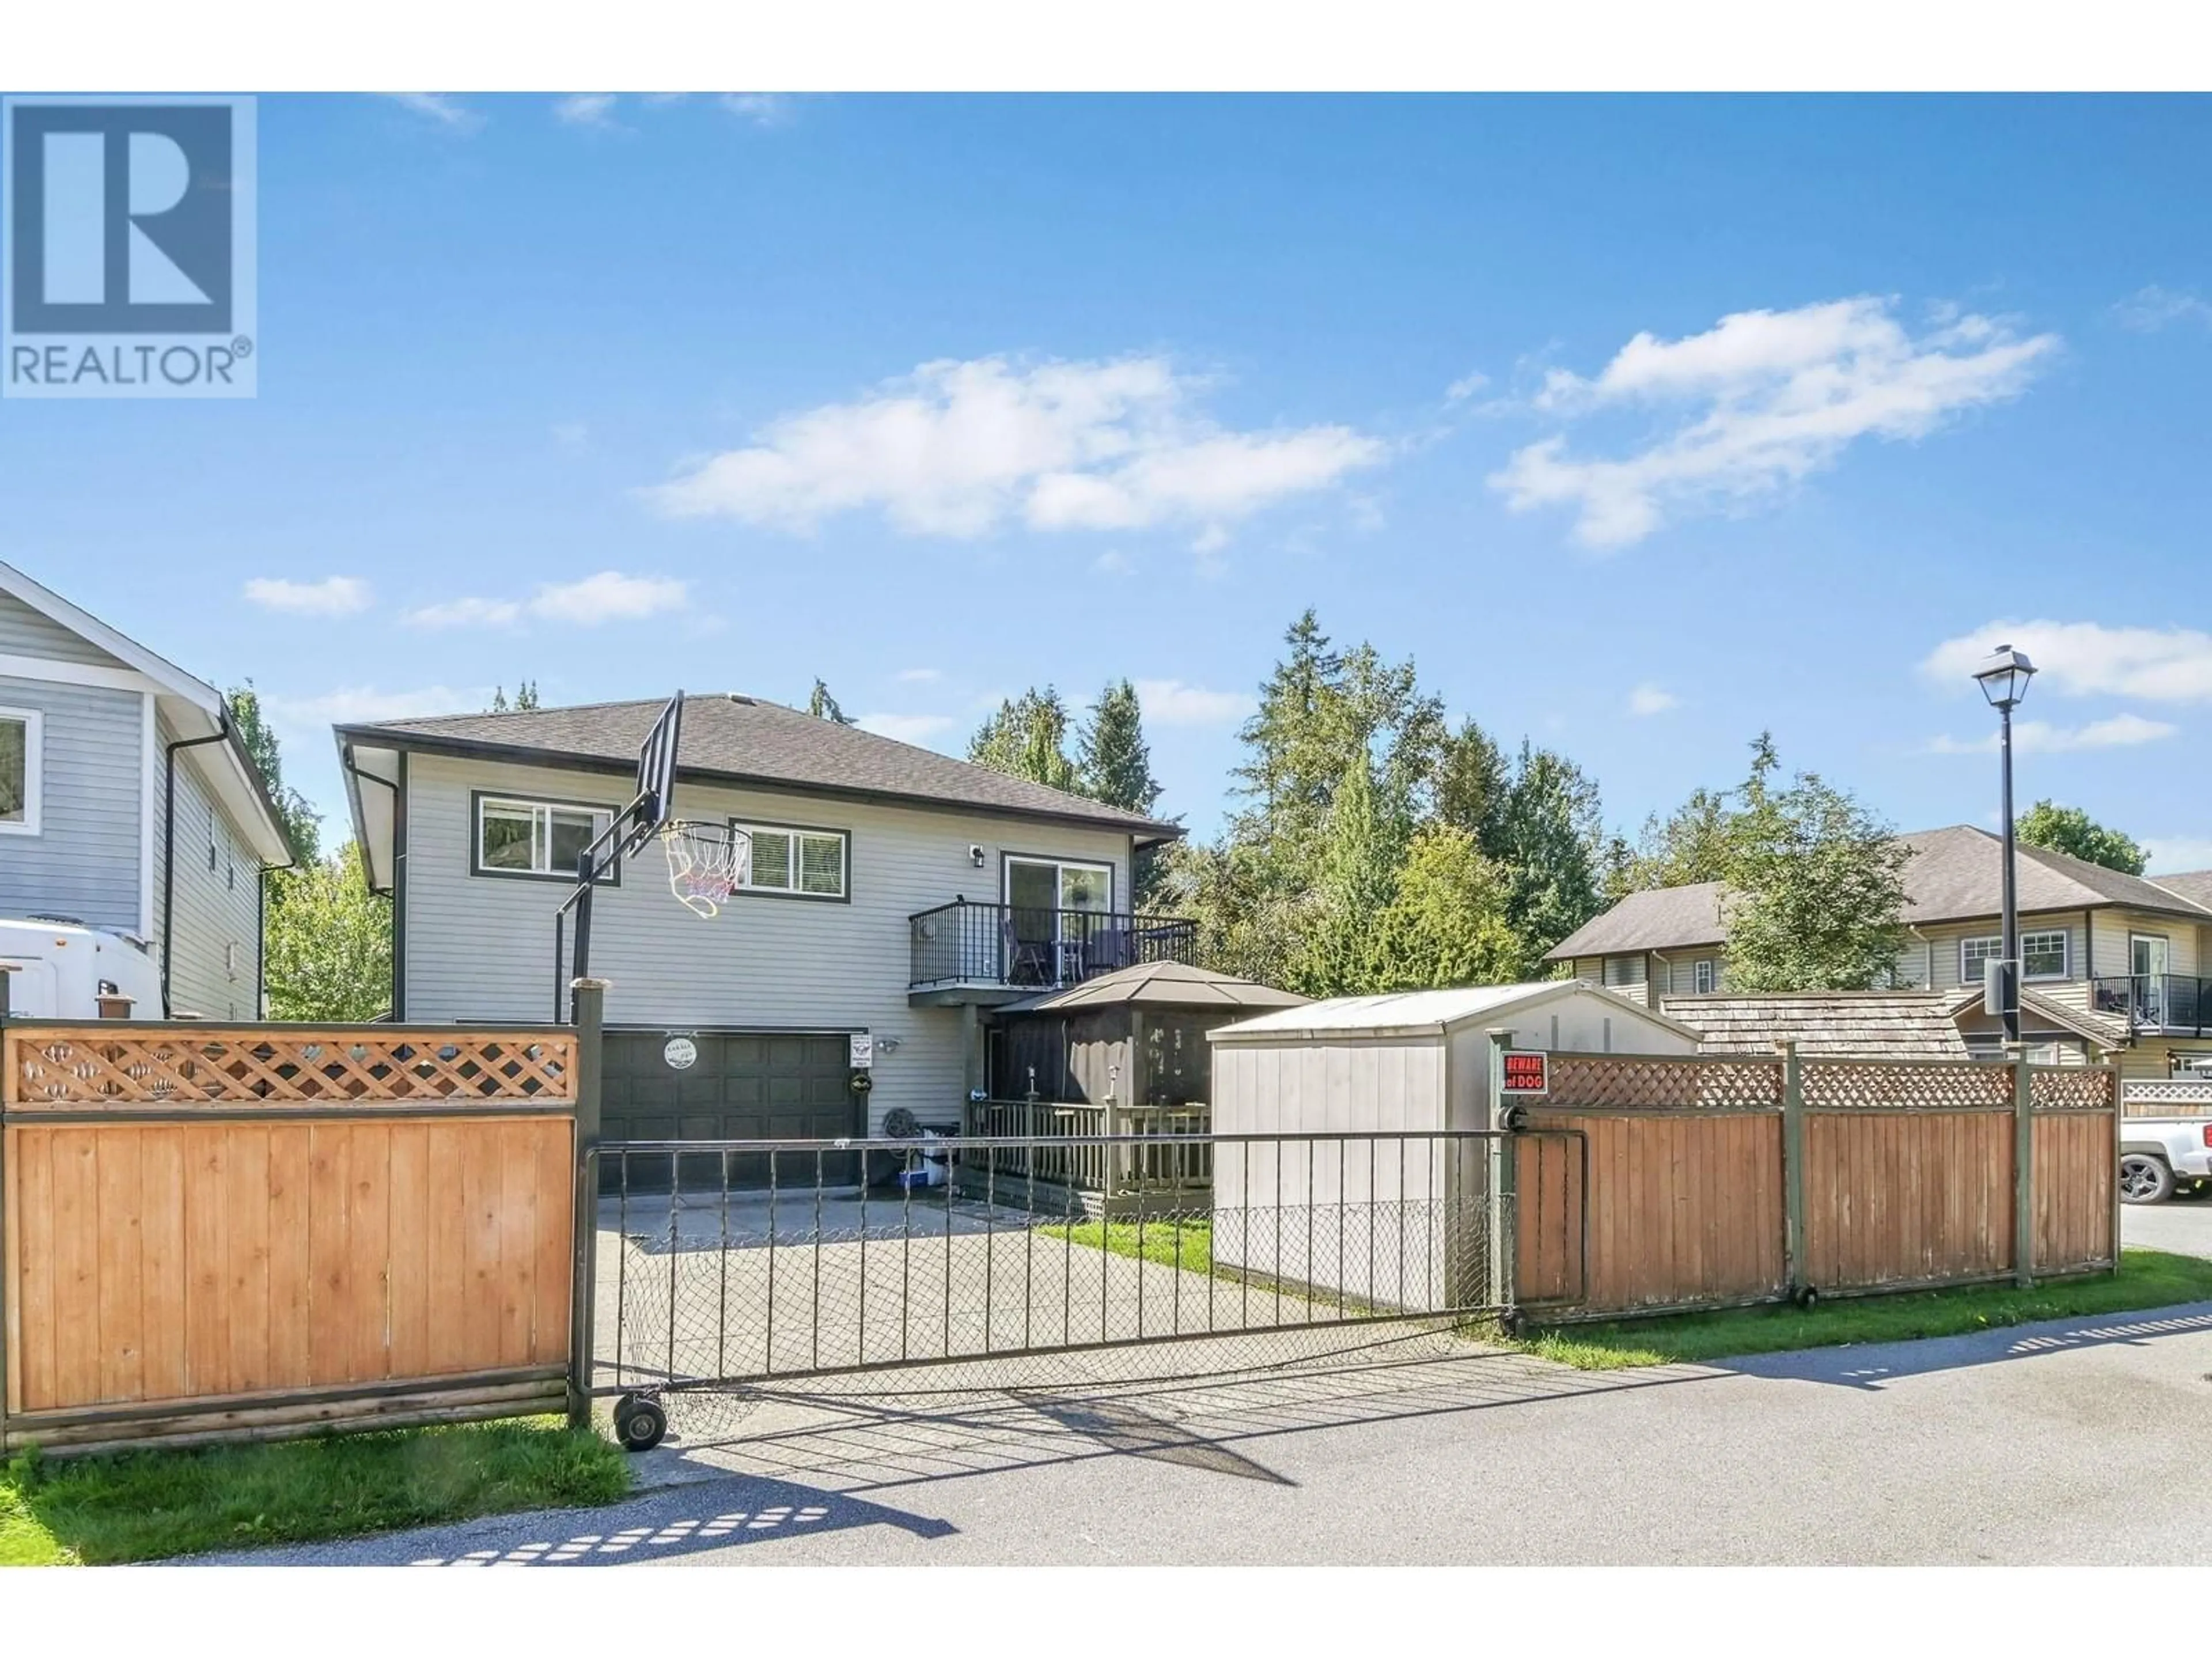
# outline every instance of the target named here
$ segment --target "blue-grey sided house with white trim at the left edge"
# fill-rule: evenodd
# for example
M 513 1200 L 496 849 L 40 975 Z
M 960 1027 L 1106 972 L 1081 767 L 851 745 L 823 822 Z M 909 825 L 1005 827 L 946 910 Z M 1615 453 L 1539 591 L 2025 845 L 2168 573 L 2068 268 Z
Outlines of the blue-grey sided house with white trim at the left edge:
M 257 1020 L 290 863 L 221 692 L 0 564 L 0 918 L 131 940 L 164 1000 L 139 1018 Z

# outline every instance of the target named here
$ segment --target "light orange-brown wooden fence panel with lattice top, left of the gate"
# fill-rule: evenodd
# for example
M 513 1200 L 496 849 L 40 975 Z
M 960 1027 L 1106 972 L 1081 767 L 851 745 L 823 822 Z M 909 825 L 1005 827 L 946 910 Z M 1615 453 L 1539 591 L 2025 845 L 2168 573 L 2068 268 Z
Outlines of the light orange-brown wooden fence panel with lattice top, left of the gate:
M 568 1029 L 0 1024 L 0 1447 L 551 1411 Z

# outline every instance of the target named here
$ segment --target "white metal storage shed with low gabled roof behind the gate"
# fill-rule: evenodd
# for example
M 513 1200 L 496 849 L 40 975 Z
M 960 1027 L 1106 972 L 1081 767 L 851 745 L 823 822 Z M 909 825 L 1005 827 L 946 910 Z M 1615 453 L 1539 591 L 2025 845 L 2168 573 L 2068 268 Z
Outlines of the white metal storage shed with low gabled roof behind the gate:
M 1489 1146 L 1444 1133 L 1491 1126 L 1493 1029 L 1562 1053 L 1699 1044 L 1579 980 L 1332 998 L 1219 1026 L 1212 1259 L 1374 1307 L 1480 1301 L 1467 1279 L 1486 1272 Z

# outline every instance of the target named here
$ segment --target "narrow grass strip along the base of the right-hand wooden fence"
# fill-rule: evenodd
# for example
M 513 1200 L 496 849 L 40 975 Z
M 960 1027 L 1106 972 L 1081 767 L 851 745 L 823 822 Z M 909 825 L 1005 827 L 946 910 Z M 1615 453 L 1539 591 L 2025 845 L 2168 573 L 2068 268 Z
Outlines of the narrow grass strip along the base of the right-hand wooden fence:
M 2126 1250 L 2117 1274 L 2062 1279 L 2035 1290 L 1966 1285 L 1827 1301 L 1812 1310 L 1790 1305 L 1732 1307 L 1714 1314 L 1668 1314 L 1606 1325 L 1553 1325 L 1531 1329 L 1517 1340 L 1498 1332 L 1482 1332 L 1482 1336 L 1504 1347 L 1573 1365 L 1579 1371 L 1610 1371 L 1624 1365 L 1674 1365 L 1739 1354 L 1776 1354 L 1794 1347 L 1962 1336 L 2002 1325 L 2026 1325 L 2037 1318 L 2117 1314 L 2130 1307 L 2168 1307 L 2192 1301 L 2212 1301 L 2212 1261 L 2172 1256 L 2163 1250 Z

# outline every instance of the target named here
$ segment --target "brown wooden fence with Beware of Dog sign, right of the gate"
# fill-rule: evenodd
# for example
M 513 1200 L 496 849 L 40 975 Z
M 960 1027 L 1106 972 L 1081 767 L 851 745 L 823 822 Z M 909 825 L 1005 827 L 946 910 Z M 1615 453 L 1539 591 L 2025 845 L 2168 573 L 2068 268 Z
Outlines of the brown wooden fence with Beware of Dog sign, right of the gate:
M 2110 1066 L 1555 1055 L 1528 1128 L 1575 1135 L 1524 1141 L 1517 1296 L 1586 1316 L 2110 1270 L 2117 1108 Z

